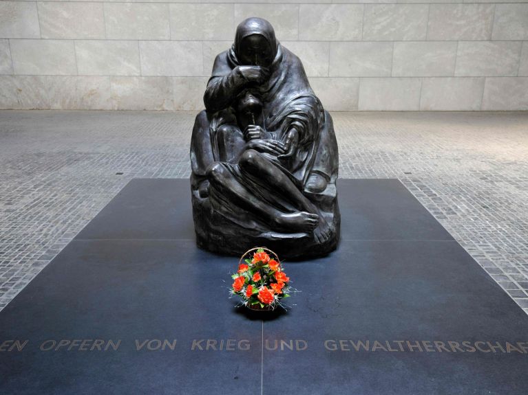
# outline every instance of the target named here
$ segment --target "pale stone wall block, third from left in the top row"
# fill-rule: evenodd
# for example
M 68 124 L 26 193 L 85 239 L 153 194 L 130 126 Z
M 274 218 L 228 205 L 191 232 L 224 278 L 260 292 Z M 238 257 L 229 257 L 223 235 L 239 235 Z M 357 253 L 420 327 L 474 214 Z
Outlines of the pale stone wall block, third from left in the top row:
M 105 3 L 107 38 L 169 40 L 169 4 Z

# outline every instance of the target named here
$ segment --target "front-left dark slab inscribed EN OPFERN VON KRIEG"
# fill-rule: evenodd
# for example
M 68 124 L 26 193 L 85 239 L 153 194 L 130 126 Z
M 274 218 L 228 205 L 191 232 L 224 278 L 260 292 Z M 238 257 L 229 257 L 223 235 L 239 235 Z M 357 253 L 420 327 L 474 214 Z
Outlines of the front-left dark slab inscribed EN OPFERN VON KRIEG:
M 0 343 L 29 343 L 0 352 L 0 393 L 236 394 L 242 381 L 260 385 L 262 325 L 229 299 L 232 269 L 232 259 L 189 241 L 70 242 L 1 312 Z M 121 343 L 117 351 L 39 350 L 49 339 Z M 176 339 L 176 347 L 138 351 L 136 339 Z M 250 349 L 193 351 L 193 339 L 215 339 L 217 348 L 220 339 L 224 348 L 245 339 Z

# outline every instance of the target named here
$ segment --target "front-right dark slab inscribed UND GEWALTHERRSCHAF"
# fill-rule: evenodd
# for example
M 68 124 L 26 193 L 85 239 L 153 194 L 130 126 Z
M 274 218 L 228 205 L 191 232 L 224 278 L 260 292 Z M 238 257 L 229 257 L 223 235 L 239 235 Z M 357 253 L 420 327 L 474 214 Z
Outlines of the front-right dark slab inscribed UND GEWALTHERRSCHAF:
M 331 256 L 287 270 L 302 293 L 287 315 L 264 323 L 264 394 L 299 383 L 307 394 L 526 394 L 528 354 L 462 344 L 520 341 L 528 351 L 528 317 L 457 242 L 341 242 Z M 267 350 L 276 339 L 308 348 Z M 369 341 L 368 351 L 350 340 Z M 372 351 L 374 341 L 386 350 Z M 434 351 L 406 342 L 401 351 L 395 341 L 430 341 Z

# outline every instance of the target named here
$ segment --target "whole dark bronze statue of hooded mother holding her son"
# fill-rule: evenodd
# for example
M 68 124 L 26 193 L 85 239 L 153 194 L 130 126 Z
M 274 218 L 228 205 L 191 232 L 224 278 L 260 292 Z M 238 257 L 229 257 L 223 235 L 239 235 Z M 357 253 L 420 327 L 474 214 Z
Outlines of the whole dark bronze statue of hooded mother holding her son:
M 238 254 L 264 244 L 288 256 L 335 249 L 332 119 L 268 21 L 238 25 L 231 49 L 215 58 L 204 103 L 191 139 L 198 245 Z

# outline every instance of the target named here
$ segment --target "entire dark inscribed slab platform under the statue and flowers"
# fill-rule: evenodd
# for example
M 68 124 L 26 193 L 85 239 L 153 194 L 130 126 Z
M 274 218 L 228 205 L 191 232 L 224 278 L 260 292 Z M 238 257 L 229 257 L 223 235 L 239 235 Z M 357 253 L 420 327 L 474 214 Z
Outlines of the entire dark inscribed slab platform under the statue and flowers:
M 0 312 L 0 393 L 525 394 L 522 309 L 399 181 L 338 188 L 339 249 L 258 315 L 189 181 L 134 179 Z

